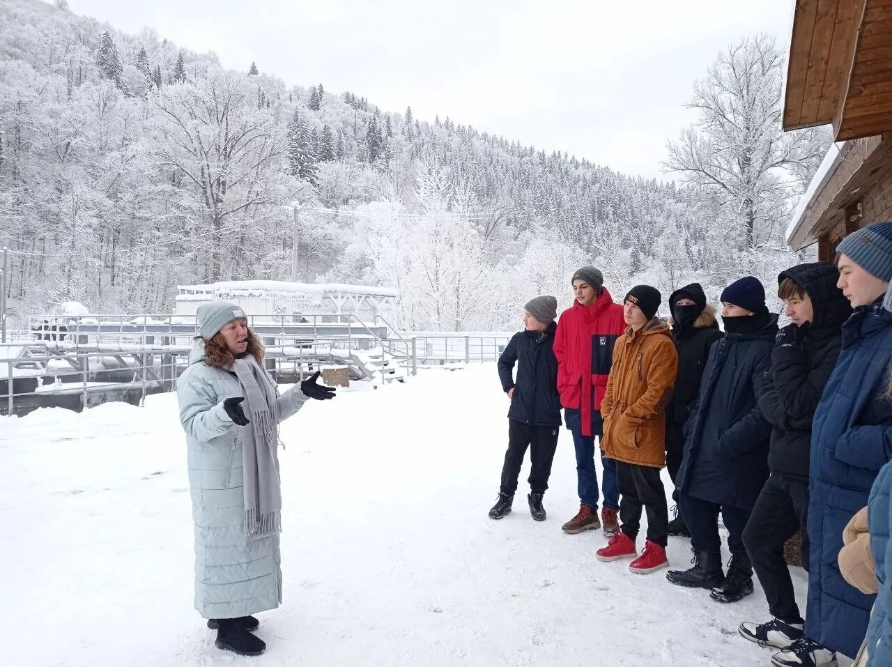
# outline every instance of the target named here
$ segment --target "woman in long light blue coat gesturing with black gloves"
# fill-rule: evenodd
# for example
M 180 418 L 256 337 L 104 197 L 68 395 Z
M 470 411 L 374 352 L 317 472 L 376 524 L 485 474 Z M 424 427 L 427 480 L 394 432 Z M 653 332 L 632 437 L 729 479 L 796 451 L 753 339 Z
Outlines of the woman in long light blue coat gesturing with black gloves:
M 260 655 L 251 614 L 282 601 L 278 423 L 335 391 L 318 373 L 279 396 L 241 307 L 202 304 L 189 366 L 177 383 L 195 523 L 195 609 L 219 648 Z

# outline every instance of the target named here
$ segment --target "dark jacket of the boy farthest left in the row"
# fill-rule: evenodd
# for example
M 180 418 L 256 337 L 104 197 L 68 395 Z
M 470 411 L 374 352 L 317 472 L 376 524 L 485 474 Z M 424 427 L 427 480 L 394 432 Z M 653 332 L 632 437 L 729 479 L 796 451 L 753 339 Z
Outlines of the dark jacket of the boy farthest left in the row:
M 514 388 L 508 419 L 533 426 L 559 426 L 558 359 L 553 350 L 552 322 L 544 332 L 520 331 L 514 334 L 499 357 L 502 389 Z M 512 377 L 517 365 L 517 379 Z

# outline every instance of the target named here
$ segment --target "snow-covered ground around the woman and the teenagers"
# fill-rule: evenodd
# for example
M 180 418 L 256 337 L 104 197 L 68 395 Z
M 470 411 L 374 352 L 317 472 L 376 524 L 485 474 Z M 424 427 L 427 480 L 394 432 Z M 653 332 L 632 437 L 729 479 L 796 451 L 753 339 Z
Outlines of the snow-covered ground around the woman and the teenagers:
M 286 422 L 284 604 L 260 614 L 266 654 L 213 646 L 192 608 L 192 519 L 176 397 L 0 417 L 4 665 L 768 664 L 739 622 L 768 618 L 665 572 L 600 563 L 600 531 L 568 536 L 573 441 L 546 494 L 487 518 L 508 402 L 492 364 L 310 401 Z M 668 482 L 668 480 L 667 480 Z M 687 567 L 684 540 L 670 560 Z M 726 554 L 727 557 L 727 554 Z M 795 574 L 805 593 L 805 572 Z

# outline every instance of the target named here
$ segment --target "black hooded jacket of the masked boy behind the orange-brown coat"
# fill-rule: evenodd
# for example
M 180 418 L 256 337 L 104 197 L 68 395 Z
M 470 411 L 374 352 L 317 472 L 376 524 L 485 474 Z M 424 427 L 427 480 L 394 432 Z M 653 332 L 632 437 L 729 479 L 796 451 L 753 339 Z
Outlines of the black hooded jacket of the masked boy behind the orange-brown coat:
M 675 302 L 680 299 L 693 300 L 700 311 L 690 326 L 681 326 L 675 321 Z M 666 406 L 666 426 L 672 428 L 672 424 L 683 426 L 697 407 L 709 348 L 722 337 L 722 331 L 715 320 L 715 309 L 706 304 L 706 294 L 698 283 L 673 292 L 669 297 L 669 310 L 673 316 L 673 341 L 678 351 L 678 375 L 672 400 Z

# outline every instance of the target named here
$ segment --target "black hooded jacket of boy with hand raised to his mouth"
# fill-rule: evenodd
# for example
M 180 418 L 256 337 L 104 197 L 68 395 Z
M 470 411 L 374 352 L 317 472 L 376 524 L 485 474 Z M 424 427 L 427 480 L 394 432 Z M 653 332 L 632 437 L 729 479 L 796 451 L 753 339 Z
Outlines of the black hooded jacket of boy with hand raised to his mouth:
M 842 325 L 852 309 L 836 286 L 839 273 L 831 264 L 800 264 L 778 276 L 790 278 L 808 294 L 811 325 L 787 325 L 778 333 L 772 366 L 759 391 L 759 408 L 772 424 L 768 467 L 793 479 L 808 479 L 812 418 L 824 386 L 836 366 Z

